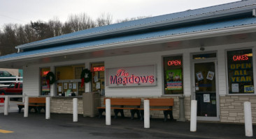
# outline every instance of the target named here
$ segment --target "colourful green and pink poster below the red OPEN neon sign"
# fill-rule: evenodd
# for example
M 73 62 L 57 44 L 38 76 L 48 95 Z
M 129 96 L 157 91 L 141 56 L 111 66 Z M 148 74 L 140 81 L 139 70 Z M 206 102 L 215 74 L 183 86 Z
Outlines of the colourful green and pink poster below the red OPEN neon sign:
M 166 70 L 167 90 L 182 90 L 182 70 Z

